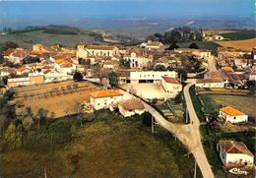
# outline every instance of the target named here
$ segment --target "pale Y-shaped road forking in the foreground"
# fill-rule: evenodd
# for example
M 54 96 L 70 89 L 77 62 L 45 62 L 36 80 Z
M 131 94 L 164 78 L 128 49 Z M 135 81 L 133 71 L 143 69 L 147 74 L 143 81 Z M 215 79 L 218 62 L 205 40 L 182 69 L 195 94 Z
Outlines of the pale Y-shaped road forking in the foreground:
M 199 126 L 200 122 L 194 110 L 192 100 L 189 95 L 189 88 L 194 84 L 189 84 L 184 88 L 184 95 L 190 116 L 190 122 L 193 124 L 174 124 L 164 119 L 160 113 L 151 105 L 143 102 L 147 111 L 149 111 L 160 124 L 161 127 L 172 133 L 183 145 L 185 145 L 194 155 L 197 164 L 204 178 L 214 178 L 214 173 L 205 155 L 204 148 L 201 143 Z M 129 92 L 122 91 L 127 96 L 133 97 Z

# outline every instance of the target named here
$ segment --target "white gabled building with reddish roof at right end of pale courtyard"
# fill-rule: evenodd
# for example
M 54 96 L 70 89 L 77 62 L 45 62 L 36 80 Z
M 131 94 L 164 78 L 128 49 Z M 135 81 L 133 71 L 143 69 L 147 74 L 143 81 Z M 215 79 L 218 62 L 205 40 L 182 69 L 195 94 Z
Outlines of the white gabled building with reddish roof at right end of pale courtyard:
M 176 78 L 161 77 L 160 85 L 165 92 L 177 94 L 182 90 L 182 85 Z

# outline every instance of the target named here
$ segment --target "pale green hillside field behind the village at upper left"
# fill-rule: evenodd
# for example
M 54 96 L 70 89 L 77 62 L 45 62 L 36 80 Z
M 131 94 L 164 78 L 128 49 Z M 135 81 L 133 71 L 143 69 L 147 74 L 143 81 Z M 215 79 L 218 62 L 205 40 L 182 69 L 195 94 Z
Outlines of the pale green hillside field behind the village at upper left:
M 89 34 L 50 34 L 43 30 L 33 30 L 29 32 L 17 32 L 0 36 L 0 43 L 13 41 L 21 47 L 32 48 L 32 44 L 42 43 L 44 45 L 62 44 L 68 47 L 75 47 L 78 42 L 99 43 L 94 36 Z

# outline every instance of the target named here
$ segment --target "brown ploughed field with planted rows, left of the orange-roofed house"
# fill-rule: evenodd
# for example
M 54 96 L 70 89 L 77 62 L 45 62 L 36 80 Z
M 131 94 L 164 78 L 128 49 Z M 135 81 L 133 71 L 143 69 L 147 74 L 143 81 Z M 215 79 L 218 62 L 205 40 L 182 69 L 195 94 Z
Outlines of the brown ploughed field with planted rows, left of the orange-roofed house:
M 19 115 L 31 107 L 33 114 L 42 108 L 54 118 L 75 114 L 81 102 L 89 101 L 89 93 L 98 89 L 87 82 L 73 81 L 16 88 L 16 112 Z

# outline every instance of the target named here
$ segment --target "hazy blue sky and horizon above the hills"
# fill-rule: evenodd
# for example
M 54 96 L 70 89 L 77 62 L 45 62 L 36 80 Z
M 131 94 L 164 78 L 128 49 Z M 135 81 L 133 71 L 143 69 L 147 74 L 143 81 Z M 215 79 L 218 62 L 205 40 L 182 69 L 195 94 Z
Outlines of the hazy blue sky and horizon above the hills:
M 89 20 L 228 20 L 254 22 L 254 0 L 69 0 L 0 1 L 0 29 Z

